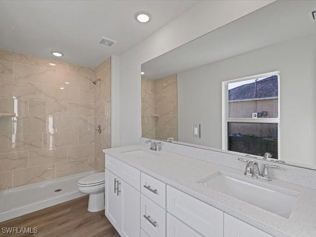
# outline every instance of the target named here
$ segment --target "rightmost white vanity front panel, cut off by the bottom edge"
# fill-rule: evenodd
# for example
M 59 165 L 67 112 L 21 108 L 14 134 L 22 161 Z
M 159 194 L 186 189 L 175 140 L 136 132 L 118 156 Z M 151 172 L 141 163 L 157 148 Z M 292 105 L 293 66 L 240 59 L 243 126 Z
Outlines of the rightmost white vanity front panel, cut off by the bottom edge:
M 273 237 L 224 213 L 224 237 Z

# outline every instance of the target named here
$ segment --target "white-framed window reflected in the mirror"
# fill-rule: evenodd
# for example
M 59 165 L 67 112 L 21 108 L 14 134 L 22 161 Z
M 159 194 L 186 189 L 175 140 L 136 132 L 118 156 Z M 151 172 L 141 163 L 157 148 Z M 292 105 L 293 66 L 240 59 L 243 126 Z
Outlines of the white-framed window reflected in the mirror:
M 280 158 L 279 72 L 222 82 L 222 148 Z

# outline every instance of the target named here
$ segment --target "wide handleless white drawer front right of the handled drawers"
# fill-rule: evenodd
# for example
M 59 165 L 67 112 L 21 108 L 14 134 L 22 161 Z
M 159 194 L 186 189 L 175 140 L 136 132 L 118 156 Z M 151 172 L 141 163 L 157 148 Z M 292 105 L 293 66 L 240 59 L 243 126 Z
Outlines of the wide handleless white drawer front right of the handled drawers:
M 204 236 L 223 236 L 222 211 L 168 185 L 167 211 Z

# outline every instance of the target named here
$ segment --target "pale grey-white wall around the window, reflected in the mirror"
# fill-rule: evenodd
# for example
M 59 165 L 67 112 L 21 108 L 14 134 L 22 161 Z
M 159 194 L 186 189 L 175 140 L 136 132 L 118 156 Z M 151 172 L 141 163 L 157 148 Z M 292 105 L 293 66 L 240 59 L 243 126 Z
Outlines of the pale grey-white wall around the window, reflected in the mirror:
M 179 73 L 179 141 L 221 148 L 222 81 L 280 71 L 281 158 L 316 165 L 315 42 L 313 34 Z

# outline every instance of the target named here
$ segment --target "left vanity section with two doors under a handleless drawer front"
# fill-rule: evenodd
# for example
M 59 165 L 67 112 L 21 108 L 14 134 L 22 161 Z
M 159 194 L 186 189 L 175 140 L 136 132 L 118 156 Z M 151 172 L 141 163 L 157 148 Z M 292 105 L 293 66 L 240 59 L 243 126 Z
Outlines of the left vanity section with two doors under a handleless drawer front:
M 116 173 L 113 173 L 110 169 L 106 170 L 105 215 L 120 236 L 140 236 L 140 171 L 110 156 L 107 156 L 108 162 L 116 164 L 116 166 L 110 165 Z M 113 167 L 116 168 L 113 169 Z M 133 177 L 129 180 L 132 184 L 135 184 L 134 181 L 138 179 L 138 185 L 136 184 L 138 190 L 121 178 L 130 176 Z

